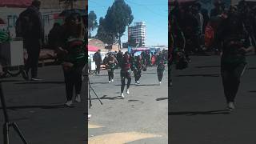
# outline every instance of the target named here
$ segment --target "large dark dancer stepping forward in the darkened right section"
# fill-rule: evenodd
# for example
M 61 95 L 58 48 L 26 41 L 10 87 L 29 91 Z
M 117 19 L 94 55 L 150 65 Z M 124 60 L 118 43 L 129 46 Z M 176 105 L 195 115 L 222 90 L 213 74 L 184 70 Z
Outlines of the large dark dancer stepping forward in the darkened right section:
M 242 16 L 236 7 L 231 6 L 227 18 L 217 31 L 217 39 L 222 46 L 222 84 L 229 110 L 234 110 L 234 98 L 238 93 L 240 78 L 246 70 L 245 54 L 254 48 Z

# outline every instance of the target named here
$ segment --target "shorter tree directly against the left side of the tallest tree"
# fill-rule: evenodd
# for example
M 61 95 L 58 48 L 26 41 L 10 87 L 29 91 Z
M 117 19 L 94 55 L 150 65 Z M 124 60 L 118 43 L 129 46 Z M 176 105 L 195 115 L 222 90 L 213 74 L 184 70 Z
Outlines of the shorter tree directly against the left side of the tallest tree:
M 98 30 L 96 34 L 96 38 L 101 40 L 102 42 L 112 45 L 114 43 L 114 38 L 113 34 L 107 33 L 105 30 L 105 19 L 104 18 L 99 18 L 99 25 L 98 25 Z

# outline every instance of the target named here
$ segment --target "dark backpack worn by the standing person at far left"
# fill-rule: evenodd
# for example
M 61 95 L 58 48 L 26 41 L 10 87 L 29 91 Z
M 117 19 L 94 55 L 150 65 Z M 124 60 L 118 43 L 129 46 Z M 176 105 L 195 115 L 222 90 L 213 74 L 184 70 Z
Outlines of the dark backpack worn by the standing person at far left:
M 24 37 L 31 29 L 30 14 L 27 10 L 23 11 L 15 22 L 16 37 Z

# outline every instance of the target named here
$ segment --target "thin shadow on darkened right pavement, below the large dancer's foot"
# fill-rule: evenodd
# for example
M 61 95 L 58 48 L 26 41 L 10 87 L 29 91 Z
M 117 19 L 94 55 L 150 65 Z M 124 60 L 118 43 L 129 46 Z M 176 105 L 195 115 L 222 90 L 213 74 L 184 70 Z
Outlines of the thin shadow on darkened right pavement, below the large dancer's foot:
M 175 111 L 169 112 L 168 115 L 210 115 L 210 114 L 230 114 L 229 110 L 210 110 L 210 111 Z

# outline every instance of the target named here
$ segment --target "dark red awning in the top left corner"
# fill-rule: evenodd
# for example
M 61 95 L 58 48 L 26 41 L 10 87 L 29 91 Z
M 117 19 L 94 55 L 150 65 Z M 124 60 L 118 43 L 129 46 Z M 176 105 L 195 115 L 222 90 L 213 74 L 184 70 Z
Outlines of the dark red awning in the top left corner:
M 31 5 L 32 0 L 1 0 L 0 7 L 26 8 Z

